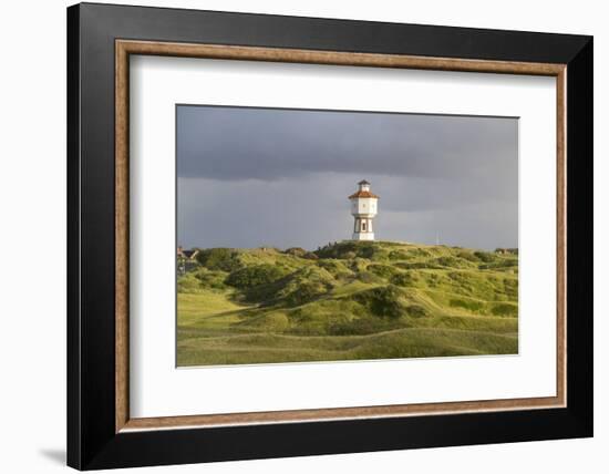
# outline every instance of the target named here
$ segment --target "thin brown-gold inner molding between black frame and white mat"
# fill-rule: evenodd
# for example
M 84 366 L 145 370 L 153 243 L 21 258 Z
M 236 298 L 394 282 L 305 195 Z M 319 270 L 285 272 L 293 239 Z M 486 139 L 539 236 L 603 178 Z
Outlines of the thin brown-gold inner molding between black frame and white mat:
M 349 406 L 188 416 L 131 418 L 128 406 L 128 99 L 130 55 L 163 55 L 235 61 L 290 62 L 369 68 L 400 68 L 436 71 L 488 72 L 556 78 L 557 104 L 557 353 L 556 396 L 477 400 L 466 402 Z M 211 427 L 259 423 L 287 423 L 341 419 L 433 415 L 463 412 L 530 410 L 566 406 L 566 81 L 565 64 L 426 58 L 337 51 L 188 44 L 154 41 L 115 41 L 115 431 Z

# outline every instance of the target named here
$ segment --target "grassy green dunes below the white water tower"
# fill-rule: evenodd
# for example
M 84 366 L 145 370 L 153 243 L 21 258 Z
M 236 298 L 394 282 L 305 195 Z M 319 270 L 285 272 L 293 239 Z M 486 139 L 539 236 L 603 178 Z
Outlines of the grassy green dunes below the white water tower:
M 402 243 L 205 249 L 178 365 L 517 353 L 518 256 Z

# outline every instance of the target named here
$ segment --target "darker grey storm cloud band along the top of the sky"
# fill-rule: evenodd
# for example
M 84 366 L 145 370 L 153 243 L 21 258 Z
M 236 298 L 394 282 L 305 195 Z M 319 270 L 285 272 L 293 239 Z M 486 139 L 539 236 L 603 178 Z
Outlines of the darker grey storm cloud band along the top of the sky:
M 272 181 L 349 168 L 453 177 L 484 172 L 491 157 L 493 166 L 508 165 L 516 121 L 180 106 L 178 131 L 184 177 Z

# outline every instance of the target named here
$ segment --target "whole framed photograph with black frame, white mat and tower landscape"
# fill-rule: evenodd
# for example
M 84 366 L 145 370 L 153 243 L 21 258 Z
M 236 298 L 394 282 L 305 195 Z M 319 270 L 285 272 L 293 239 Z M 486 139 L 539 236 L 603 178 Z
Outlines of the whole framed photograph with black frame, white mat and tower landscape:
M 592 39 L 68 9 L 68 462 L 592 435 Z

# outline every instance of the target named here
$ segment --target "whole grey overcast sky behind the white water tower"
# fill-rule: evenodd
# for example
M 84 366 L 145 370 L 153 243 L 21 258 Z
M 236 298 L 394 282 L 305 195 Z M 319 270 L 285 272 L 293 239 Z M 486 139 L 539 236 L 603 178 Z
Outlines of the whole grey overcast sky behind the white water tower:
M 349 239 L 361 179 L 380 196 L 378 240 L 518 246 L 516 118 L 177 107 L 185 248 Z

